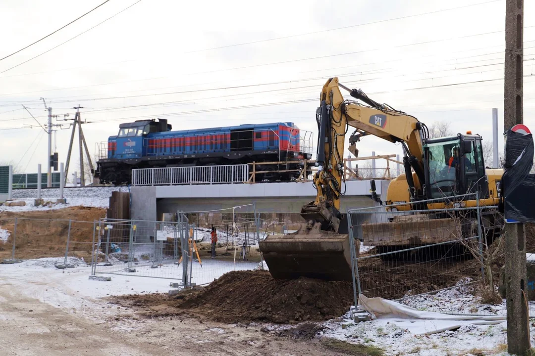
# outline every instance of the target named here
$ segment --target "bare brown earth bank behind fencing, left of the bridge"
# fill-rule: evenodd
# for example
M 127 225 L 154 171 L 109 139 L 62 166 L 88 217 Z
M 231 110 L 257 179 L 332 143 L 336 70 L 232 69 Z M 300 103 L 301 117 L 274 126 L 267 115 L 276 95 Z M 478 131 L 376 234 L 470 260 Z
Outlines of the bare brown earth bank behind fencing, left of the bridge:
M 17 218 L 16 258 L 58 257 L 65 254 L 68 220 L 71 222 L 69 255 L 90 258 L 93 241 L 93 221 L 105 217 L 106 209 L 70 207 L 65 209 L 0 212 L 0 226 L 10 232 L 6 242 L 0 242 L 0 258 L 11 257 L 14 218 Z

